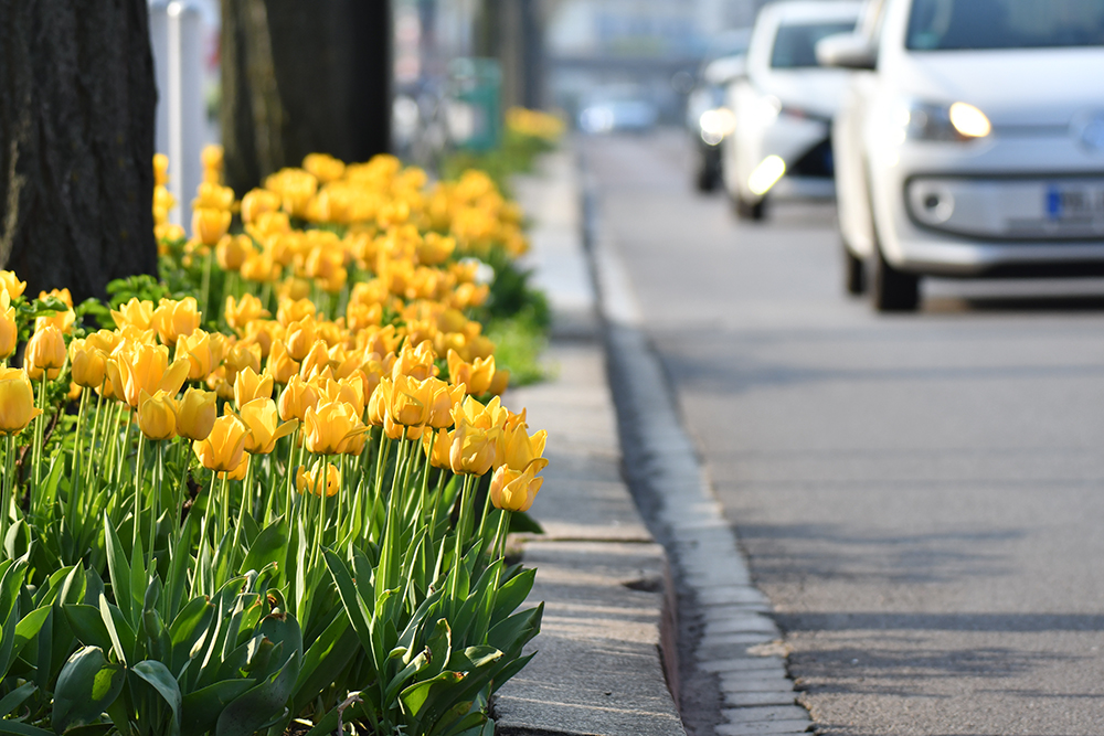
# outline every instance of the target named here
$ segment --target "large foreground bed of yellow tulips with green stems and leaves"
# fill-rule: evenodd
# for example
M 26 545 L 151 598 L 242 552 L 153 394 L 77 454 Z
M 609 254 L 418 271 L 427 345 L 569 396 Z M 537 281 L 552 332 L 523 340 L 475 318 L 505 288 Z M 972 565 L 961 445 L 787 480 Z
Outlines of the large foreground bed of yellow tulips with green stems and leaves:
M 203 160 L 190 236 L 155 161 L 160 280 L 0 273 L 0 733 L 492 733 L 541 619 L 505 541 L 545 435 L 484 333 L 521 212 L 391 157 L 237 201 Z

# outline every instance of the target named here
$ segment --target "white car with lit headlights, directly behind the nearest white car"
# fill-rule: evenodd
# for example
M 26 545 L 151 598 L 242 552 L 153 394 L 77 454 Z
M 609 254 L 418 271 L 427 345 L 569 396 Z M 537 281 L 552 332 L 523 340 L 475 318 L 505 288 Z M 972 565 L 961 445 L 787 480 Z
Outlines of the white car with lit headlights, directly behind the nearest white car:
M 831 199 L 831 121 L 849 75 L 818 65 L 816 44 L 853 31 L 861 8 L 857 1 L 798 0 L 760 11 L 744 74 L 729 86 L 735 131 L 721 153 L 740 217 L 763 217 L 767 194 Z

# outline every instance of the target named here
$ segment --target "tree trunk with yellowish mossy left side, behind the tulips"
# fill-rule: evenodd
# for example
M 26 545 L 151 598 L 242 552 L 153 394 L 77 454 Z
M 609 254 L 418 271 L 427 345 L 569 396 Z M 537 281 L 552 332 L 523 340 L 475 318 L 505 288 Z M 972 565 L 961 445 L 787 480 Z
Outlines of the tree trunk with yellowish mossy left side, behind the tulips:
M 391 36 L 385 0 L 223 0 L 227 184 L 242 194 L 315 151 L 388 151 Z

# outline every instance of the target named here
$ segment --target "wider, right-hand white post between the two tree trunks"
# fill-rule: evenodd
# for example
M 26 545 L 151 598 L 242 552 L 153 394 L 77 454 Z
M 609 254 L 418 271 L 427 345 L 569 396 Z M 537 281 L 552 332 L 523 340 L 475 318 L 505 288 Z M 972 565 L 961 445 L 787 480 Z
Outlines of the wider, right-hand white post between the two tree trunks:
M 191 228 L 192 199 L 203 180 L 203 20 L 189 0 L 168 7 L 169 191 L 177 198 L 174 222 Z

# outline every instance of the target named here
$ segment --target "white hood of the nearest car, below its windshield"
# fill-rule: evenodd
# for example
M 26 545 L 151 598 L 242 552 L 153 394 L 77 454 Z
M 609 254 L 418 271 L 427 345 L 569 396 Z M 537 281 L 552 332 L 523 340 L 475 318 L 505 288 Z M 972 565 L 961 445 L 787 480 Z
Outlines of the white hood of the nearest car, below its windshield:
M 887 82 L 927 103 L 969 103 L 997 127 L 1066 126 L 1104 109 L 1104 49 L 905 54 Z

